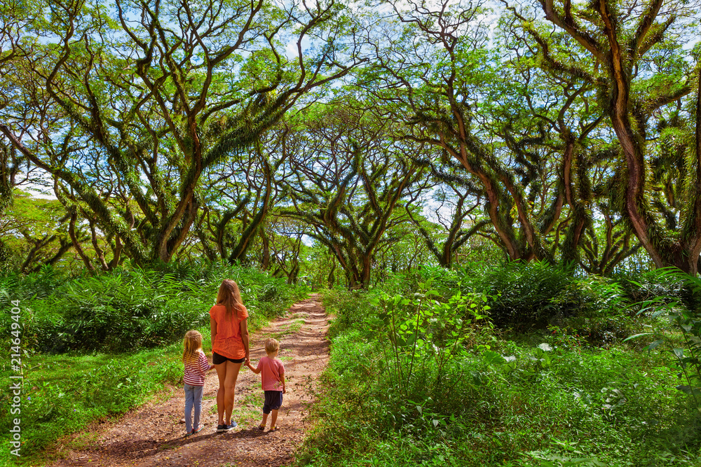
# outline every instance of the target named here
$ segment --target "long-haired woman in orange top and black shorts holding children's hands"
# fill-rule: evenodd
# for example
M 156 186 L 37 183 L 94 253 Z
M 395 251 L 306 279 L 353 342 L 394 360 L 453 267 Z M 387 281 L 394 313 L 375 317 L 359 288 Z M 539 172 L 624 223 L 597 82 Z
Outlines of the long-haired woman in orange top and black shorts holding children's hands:
M 247 317 L 238 285 L 231 279 L 224 279 L 217 293 L 217 305 L 210 309 L 212 363 L 219 377 L 217 432 L 229 431 L 236 426 L 236 421 L 231 421 L 236 379 L 241 364 L 250 363 Z

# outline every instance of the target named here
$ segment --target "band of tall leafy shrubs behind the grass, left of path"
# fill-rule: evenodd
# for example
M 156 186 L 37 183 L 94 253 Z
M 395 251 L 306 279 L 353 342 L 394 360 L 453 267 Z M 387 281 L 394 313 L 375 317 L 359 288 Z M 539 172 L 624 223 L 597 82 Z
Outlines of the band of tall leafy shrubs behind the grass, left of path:
M 222 279 L 238 282 L 252 321 L 283 313 L 293 286 L 259 270 L 224 263 L 120 269 L 70 279 L 51 268 L 0 277 L 0 302 L 20 300 L 25 349 L 133 351 L 179 340 L 208 322 Z M 9 315 L 0 317 L 8 329 Z

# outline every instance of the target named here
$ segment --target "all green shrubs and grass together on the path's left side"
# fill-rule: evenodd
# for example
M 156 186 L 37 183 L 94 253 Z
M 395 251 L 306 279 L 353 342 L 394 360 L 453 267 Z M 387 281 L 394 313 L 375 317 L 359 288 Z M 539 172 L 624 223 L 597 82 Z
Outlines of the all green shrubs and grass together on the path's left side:
M 208 311 L 225 278 L 240 285 L 251 330 L 307 293 L 257 270 L 217 263 L 124 269 L 98 277 L 70 278 L 50 268 L 0 277 L 2 309 L 18 300 L 22 310 L 24 376 L 21 414 L 9 413 L 11 392 L 0 393 L 0 429 L 8 433 L 11 421 L 20 417 L 22 457 L 11 456 L 4 442 L 0 464 L 41 465 L 62 435 L 179 384 L 182 335 L 198 328 L 203 347 L 210 349 Z M 1 342 L 10 349 L 10 314 L 0 321 Z M 15 374 L 11 362 L 4 361 L 0 384 L 8 388 Z

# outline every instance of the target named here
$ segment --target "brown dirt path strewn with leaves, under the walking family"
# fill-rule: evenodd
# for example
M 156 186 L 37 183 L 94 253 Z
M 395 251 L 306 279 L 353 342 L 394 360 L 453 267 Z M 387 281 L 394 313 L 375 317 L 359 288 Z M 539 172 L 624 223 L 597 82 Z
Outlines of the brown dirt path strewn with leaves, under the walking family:
M 287 314 L 251 338 L 253 365 L 265 355 L 267 337 L 280 341 L 279 358 L 285 365 L 287 393 L 280 407 L 276 433 L 257 429 L 263 405 L 259 375 L 241 368 L 236 384 L 232 420 L 238 426 L 216 433 L 217 374 L 207 373 L 202 401 L 200 433 L 184 438 L 182 389 L 161 403 L 147 403 L 114 424 L 75 435 L 72 445 L 85 442 L 80 450 L 59 452 L 58 466 L 283 466 L 294 458 L 304 439 L 308 409 L 313 403 L 318 375 L 329 358 L 326 339 L 327 316 L 312 295 L 293 305 Z M 211 356 L 210 356 L 211 361 Z M 269 426 L 269 420 L 268 420 Z

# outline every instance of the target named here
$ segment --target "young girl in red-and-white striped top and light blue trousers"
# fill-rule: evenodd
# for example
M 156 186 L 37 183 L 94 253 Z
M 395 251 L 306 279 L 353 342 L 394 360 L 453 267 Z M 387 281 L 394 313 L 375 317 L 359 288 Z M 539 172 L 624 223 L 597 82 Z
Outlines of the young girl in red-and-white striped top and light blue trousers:
M 196 330 L 189 330 L 183 341 L 182 363 L 185 365 L 185 435 L 193 435 L 202 429 L 200 410 L 202 410 L 202 393 L 205 389 L 205 372 L 215 368 L 207 362 L 202 351 L 202 335 Z M 190 415 L 195 407 L 194 426 Z

